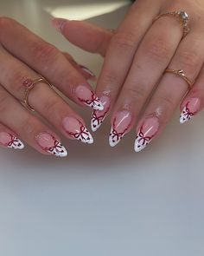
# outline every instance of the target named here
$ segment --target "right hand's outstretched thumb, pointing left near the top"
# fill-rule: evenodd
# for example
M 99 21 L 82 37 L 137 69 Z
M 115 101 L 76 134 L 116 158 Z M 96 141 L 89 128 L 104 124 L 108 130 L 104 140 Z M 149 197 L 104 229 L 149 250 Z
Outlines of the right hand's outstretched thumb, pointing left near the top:
M 69 21 L 61 18 L 54 18 L 52 24 L 70 43 L 86 51 L 105 56 L 112 38 L 111 31 L 99 28 L 91 23 Z

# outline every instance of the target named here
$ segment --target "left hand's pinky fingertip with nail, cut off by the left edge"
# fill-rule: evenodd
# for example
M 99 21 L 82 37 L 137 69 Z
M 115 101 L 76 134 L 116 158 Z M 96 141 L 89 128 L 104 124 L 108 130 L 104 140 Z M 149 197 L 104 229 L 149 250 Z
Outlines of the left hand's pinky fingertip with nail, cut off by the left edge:
M 12 149 L 24 148 L 24 144 L 18 139 L 17 135 L 2 123 L 0 123 L 0 146 Z

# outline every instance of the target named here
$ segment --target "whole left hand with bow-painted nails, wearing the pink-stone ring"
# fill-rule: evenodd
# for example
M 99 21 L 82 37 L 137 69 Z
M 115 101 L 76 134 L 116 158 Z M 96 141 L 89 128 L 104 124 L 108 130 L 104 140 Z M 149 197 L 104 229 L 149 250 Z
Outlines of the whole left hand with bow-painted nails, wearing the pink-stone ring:
M 82 118 L 46 81 L 36 82 L 42 75 L 73 102 L 101 110 L 103 105 L 86 82 L 94 77 L 91 71 L 7 17 L 0 17 L 0 70 L 2 146 L 22 149 L 20 137 L 42 154 L 66 156 L 58 135 L 41 117 L 67 138 L 92 143 Z M 28 104 L 38 115 L 21 104 L 28 89 Z

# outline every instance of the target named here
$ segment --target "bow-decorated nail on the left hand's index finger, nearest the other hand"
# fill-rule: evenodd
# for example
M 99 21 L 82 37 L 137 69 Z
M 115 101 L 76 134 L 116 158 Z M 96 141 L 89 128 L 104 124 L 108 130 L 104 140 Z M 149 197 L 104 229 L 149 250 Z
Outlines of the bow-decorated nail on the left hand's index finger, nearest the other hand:
M 79 85 L 75 90 L 76 96 L 78 97 L 79 101 L 84 103 L 86 106 L 93 108 L 95 110 L 103 110 L 104 106 L 99 101 L 97 95 L 90 89 L 88 89 L 84 85 Z

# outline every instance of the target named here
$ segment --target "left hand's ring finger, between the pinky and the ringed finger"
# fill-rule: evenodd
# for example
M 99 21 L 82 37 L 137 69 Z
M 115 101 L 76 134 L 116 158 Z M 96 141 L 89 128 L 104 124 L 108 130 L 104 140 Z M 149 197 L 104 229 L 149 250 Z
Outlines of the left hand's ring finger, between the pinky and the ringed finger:
M 0 122 L 19 135 L 31 147 L 41 154 L 54 154 L 55 156 L 67 156 L 67 150 L 61 145 L 61 141 L 47 126 L 34 115 L 22 107 L 0 85 Z M 13 134 L 11 134 L 13 135 Z M 11 138 L 11 147 L 16 147 L 15 138 Z M 19 145 L 19 147 L 21 147 Z

